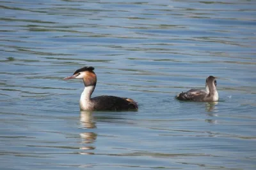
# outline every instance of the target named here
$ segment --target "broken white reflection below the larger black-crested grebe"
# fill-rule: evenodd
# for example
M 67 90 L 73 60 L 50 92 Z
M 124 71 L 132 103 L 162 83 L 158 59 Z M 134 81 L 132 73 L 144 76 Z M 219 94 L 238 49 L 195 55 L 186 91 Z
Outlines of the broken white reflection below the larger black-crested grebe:
M 80 124 L 86 129 L 95 129 L 97 128 L 96 123 L 93 121 L 92 112 L 90 111 L 81 111 L 80 112 Z M 80 133 L 82 143 L 86 145 L 92 145 L 97 139 L 97 134 L 95 132 L 83 132 Z M 94 150 L 95 146 L 83 146 L 80 147 L 80 150 Z M 94 155 L 93 152 L 79 152 L 82 155 Z

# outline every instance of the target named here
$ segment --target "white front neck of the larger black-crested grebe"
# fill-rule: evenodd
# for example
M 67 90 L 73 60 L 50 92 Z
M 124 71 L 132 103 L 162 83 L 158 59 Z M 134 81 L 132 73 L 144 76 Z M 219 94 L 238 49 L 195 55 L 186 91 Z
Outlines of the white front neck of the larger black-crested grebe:
M 83 93 L 80 97 L 80 109 L 81 110 L 90 110 L 92 108 L 91 95 L 95 86 L 84 87 Z

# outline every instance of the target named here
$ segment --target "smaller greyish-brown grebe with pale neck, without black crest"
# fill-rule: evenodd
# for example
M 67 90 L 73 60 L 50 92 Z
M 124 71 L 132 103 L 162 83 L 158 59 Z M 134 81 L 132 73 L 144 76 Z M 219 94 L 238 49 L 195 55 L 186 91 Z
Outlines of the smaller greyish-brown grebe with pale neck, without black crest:
M 191 89 L 180 93 L 176 98 L 180 101 L 218 101 L 217 81 L 214 76 L 209 76 L 205 81 L 205 90 Z

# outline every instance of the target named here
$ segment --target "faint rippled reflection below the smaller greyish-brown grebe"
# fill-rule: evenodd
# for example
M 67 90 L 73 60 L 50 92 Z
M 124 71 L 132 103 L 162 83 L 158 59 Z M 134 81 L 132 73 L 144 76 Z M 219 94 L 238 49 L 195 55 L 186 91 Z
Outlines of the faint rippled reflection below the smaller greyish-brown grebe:
M 205 122 L 208 122 L 209 124 L 218 124 L 217 120 L 214 120 L 214 117 L 218 117 L 218 102 L 209 102 L 205 103 L 205 111 L 209 112 L 207 115 L 212 118 L 205 119 Z

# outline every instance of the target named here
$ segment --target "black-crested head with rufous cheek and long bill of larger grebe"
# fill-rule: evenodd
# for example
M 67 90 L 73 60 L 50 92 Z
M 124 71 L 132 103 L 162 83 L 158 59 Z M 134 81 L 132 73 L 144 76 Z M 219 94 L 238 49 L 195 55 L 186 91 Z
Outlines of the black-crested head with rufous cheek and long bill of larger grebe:
M 97 83 L 97 76 L 94 73 L 94 67 L 83 67 L 81 69 L 77 69 L 72 76 L 68 76 L 64 78 L 64 80 L 69 80 L 73 78 L 83 79 L 84 86 L 95 86 Z

